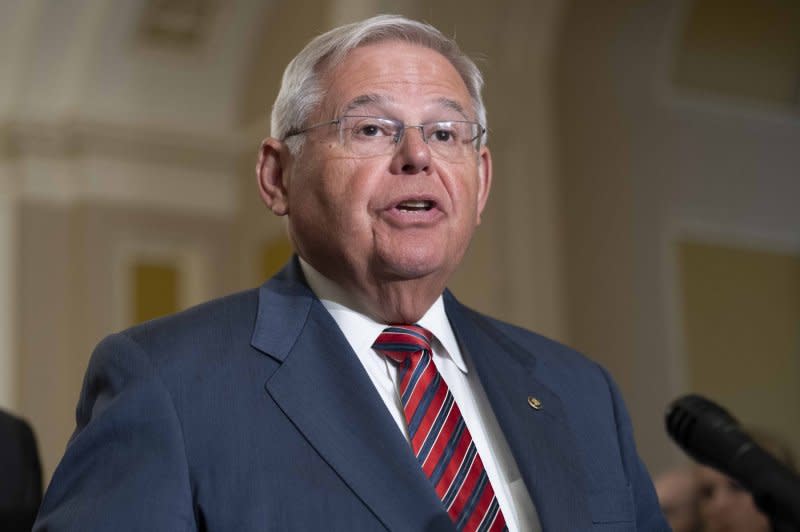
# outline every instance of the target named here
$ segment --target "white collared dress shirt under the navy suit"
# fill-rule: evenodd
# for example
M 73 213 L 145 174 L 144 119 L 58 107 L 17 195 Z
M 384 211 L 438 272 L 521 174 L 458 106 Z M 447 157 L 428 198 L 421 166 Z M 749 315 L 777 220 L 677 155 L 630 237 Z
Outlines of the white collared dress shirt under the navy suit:
M 400 402 L 398 371 L 386 357 L 372 349 L 378 335 L 387 327 L 355 310 L 352 297 L 300 259 L 309 286 L 336 320 L 359 361 L 397 423 L 409 440 L 403 405 Z M 469 371 L 453 329 L 444 311 L 442 297 L 417 322 L 434 335 L 433 363 L 439 370 L 469 428 L 486 475 L 511 532 L 540 532 L 541 525 L 517 464 L 503 436 L 478 375 Z

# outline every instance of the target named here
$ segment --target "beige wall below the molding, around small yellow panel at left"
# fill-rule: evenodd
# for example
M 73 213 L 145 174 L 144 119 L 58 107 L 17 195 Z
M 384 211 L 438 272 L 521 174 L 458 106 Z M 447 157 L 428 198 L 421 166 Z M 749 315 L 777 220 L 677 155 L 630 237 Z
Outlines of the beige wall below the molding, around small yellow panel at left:
M 135 322 L 131 266 L 174 261 L 188 281 L 186 307 L 232 290 L 235 246 L 230 222 L 196 214 L 84 202 L 20 208 L 18 401 L 49 475 L 74 429 L 92 348 Z

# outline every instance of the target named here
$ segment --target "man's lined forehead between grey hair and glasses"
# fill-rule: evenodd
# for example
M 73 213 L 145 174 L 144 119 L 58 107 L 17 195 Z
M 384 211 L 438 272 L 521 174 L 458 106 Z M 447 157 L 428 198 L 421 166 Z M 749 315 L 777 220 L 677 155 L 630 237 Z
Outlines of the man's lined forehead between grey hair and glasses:
M 321 110 L 338 114 L 352 108 L 420 111 L 450 109 L 474 116 L 469 91 L 450 61 L 430 48 L 383 41 L 355 48 L 322 77 Z

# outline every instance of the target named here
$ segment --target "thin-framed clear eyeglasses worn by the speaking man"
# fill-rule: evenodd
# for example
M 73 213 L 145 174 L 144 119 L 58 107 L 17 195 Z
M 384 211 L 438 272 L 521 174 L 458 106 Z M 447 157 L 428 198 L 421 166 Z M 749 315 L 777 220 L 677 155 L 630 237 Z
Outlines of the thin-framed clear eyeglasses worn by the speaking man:
M 394 153 L 406 129 L 419 129 L 422 140 L 434 154 L 457 161 L 480 149 L 481 137 L 486 133 L 486 128 L 478 122 L 466 120 L 442 120 L 412 126 L 380 116 L 345 115 L 290 131 L 284 139 L 332 125 L 337 126 L 341 145 L 353 155 L 362 157 Z

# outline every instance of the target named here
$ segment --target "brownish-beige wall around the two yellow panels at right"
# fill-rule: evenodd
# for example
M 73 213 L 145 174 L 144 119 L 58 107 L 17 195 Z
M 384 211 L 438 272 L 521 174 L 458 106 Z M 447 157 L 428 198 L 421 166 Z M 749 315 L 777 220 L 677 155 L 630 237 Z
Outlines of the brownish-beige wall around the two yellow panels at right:
M 683 459 L 664 409 L 701 391 L 689 378 L 677 242 L 800 250 L 797 102 L 775 107 L 673 83 L 691 6 L 575 1 L 559 46 L 570 337 L 612 369 L 653 471 Z M 713 55 L 706 60 L 713 70 Z M 726 378 L 722 366 L 717 379 Z

